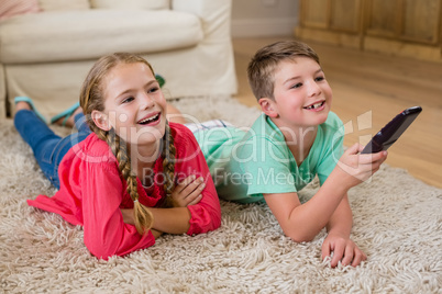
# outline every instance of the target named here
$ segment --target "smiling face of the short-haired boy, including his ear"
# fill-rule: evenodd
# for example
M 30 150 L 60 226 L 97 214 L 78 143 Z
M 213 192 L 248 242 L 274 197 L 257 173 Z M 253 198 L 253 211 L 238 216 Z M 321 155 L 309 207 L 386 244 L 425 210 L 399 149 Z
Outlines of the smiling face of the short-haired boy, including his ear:
M 281 61 L 276 69 L 274 98 L 274 101 L 267 100 L 273 110 L 267 115 L 279 127 L 317 126 L 324 123 L 329 115 L 332 90 L 317 61 L 297 57 Z

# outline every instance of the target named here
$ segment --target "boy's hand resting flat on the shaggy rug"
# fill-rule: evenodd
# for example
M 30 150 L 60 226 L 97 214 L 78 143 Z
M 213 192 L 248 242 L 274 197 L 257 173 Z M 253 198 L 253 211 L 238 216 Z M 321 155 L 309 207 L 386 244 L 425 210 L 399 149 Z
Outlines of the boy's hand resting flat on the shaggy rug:
M 329 234 L 322 244 L 322 260 L 333 252 L 330 265 L 335 268 L 341 261 L 342 265 L 357 267 L 367 256 L 350 238 Z

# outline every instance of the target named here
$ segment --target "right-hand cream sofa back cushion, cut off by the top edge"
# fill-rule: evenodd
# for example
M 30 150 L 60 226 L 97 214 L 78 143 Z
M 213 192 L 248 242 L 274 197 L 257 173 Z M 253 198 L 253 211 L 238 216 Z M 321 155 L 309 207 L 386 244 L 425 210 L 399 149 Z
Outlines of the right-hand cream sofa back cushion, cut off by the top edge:
M 169 0 L 90 0 L 98 9 L 169 9 Z

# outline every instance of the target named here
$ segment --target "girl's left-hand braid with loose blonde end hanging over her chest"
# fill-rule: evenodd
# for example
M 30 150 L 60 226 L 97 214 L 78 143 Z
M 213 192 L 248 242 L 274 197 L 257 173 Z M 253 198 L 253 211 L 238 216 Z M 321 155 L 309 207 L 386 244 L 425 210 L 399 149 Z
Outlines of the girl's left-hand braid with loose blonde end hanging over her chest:
M 139 201 L 139 189 L 136 182 L 136 174 L 131 169 L 131 159 L 128 155 L 128 146 L 124 140 L 122 140 L 115 132 L 111 129 L 107 132 L 106 142 L 110 146 L 113 155 L 115 156 L 119 170 L 128 183 L 128 193 L 134 202 L 134 218 L 135 227 L 140 234 L 144 234 L 152 228 L 154 216 L 147 210 L 147 207 L 140 203 Z

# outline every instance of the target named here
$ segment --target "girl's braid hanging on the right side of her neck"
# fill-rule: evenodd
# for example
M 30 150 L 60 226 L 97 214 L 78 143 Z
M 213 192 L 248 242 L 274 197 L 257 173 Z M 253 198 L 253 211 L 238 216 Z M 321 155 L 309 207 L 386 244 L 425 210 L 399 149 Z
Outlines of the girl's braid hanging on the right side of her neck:
M 175 156 L 176 148 L 174 145 L 174 136 L 172 135 L 170 126 L 166 123 L 166 132 L 163 137 L 163 172 L 165 177 L 164 192 L 166 193 L 165 207 L 172 207 L 172 192 L 175 189 Z

